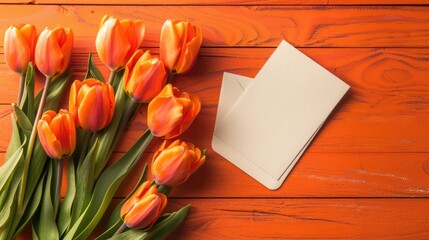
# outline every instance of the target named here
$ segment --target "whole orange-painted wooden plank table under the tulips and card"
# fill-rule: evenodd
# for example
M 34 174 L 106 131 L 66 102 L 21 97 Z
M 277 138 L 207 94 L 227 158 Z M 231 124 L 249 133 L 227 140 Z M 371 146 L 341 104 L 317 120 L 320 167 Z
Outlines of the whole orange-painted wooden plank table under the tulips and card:
M 208 159 L 173 190 L 169 210 L 188 203 L 193 208 L 171 239 L 429 238 L 429 1 L 2 2 L 1 38 L 9 24 L 32 23 L 39 32 L 56 25 L 74 30 L 71 68 L 76 79 L 84 76 L 88 52 L 95 52 L 105 14 L 145 21 L 144 47 L 155 54 L 166 19 L 188 19 L 201 26 L 199 58 L 192 71 L 174 83 L 202 100 L 201 114 L 183 139 L 207 148 Z M 351 90 L 283 186 L 270 191 L 216 154 L 211 138 L 223 72 L 255 76 L 281 39 Z M 3 55 L 3 48 L 0 52 Z M 95 60 L 107 76 L 98 57 Z M 18 76 L 3 56 L 0 63 L 4 156 Z M 145 122 L 142 109 L 116 158 L 140 136 Z M 159 143 L 152 144 L 118 199 L 133 187 L 131 181 Z

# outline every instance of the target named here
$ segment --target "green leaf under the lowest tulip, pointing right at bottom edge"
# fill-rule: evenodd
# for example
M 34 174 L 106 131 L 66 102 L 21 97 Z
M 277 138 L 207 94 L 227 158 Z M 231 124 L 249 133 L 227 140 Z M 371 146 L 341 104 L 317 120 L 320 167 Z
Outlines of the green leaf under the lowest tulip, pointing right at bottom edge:
M 168 237 L 185 220 L 191 205 L 184 206 L 179 211 L 168 214 L 160 219 L 149 230 L 130 229 L 115 235 L 110 240 L 162 240 Z

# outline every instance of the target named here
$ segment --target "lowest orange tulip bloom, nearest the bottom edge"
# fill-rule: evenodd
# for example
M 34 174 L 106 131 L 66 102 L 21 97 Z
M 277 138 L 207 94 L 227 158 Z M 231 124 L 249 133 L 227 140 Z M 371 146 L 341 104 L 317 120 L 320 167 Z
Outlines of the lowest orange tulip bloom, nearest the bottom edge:
M 150 228 L 161 216 L 167 197 L 158 192 L 156 185 L 144 182 L 121 208 L 121 218 L 129 228 Z

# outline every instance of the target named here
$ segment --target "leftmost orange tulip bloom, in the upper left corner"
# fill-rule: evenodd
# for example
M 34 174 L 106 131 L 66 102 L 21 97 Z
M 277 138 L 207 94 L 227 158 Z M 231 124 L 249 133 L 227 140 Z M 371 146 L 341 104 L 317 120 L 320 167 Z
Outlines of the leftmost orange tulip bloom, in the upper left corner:
M 4 55 L 9 68 L 19 74 L 25 73 L 28 63 L 34 63 L 36 27 L 30 24 L 10 26 L 4 35 Z

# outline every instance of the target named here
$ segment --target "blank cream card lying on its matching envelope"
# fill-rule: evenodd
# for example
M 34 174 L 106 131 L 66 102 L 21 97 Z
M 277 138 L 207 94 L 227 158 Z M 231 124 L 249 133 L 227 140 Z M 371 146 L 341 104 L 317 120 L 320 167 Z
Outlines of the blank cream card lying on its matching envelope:
M 213 149 L 277 189 L 348 88 L 283 41 L 254 79 L 224 74 Z

